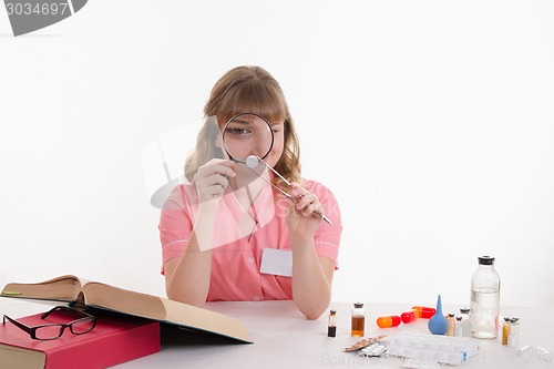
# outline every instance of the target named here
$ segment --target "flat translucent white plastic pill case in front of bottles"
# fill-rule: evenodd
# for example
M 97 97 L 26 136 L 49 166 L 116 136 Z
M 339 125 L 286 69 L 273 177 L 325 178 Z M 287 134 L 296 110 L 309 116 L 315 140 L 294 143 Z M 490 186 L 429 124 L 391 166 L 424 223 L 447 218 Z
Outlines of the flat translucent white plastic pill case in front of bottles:
M 479 346 L 469 337 L 406 332 L 390 337 L 388 353 L 456 366 L 478 355 Z

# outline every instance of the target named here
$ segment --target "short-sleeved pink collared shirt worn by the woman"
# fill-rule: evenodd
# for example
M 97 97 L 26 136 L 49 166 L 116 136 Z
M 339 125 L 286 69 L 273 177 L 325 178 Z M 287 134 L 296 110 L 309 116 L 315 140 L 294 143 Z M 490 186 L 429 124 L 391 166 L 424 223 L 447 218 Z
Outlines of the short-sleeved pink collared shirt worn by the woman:
M 308 185 L 324 206 L 325 215 L 332 222 L 332 225 L 321 222 L 314 237 L 316 254 L 330 258 L 338 268 L 342 230 L 339 206 L 327 187 L 312 181 L 308 181 Z M 252 235 L 249 230 L 245 233 L 237 229 L 237 222 L 233 222 L 242 216 L 250 216 L 235 195 L 228 191 L 220 202 L 215 237 L 217 245 L 223 246 L 213 249 L 207 300 L 291 299 L 291 277 L 259 273 L 264 248 L 291 249 L 286 218 L 273 211 L 274 189 L 264 187 L 248 209 L 258 222 Z M 165 202 L 158 227 L 164 265 L 182 256 L 187 247 L 198 212 L 197 203 L 196 192 L 191 185 L 176 186 Z

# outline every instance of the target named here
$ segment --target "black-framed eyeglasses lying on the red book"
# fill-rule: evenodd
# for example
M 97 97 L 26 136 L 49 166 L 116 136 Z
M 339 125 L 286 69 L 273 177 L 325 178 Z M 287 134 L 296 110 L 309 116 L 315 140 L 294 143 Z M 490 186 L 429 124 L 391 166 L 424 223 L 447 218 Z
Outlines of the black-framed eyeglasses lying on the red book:
M 94 317 L 90 314 L 86 314 L 84 311 L 66 307 L 66 306 L 57 306 L 57 307 L 52 308 L 50 311 L 47 311 L 43 315 L 41 315 L 40 318 L 45 319 L 52 312 L 60 311 L 60 310 L 73 311 L 75 314 L 83 316 L 83 318 L 73 320 L 73 321 L 68 322 L 68 324 L 48 324 L 48 325 L 28 327 L 24 324 L 4 315 L 3 316 L 3 325 L 6 325 L 6 319 L 8 319 L 16 327 L 21 328 L 22 330 L 27 331 L 31 336 L 32 339 L 38 339 L 41 341 L 48 341 L 51 339 L 57 339 L 59 337 L 62 337 L 65 328 L 69 328 L 73 335 L 84 335 L 84 334 L 88 334 L 91 330 L 93 330 L 94 327 L 96 326 L 96 317 Z

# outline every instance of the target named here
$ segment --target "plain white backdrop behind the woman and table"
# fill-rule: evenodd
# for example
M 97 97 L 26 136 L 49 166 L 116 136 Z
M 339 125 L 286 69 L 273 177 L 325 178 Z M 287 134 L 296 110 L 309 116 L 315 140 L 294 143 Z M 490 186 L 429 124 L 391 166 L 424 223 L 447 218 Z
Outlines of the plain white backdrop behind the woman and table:
M 143 152 L 240 64 L 340 202 L 335 300 L 469 305 L 493 255 L 501 304 L 554 305 L 554 2 L 530 0 L 94 0 L 19 38 L 0 9 L 0 285 L 165 296 Z

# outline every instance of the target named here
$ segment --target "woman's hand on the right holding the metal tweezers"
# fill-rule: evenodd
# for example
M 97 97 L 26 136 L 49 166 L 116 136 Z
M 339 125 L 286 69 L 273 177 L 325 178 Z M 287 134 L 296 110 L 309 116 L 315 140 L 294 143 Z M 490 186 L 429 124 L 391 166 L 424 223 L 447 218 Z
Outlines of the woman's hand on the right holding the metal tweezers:
M 291 183 L 290 195 L 298 199 L 297 204 L 290 203 L 287 214 L 287 226 L 290 237 L 298 240 L 314 239 L 314 235 L 321 224 L 321 217 L 314 212 L 324 214 L 324 207 L 317 196 L 298 183 Z

